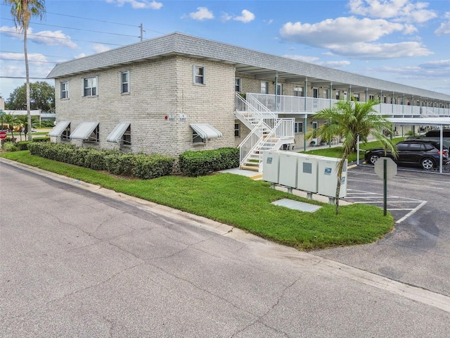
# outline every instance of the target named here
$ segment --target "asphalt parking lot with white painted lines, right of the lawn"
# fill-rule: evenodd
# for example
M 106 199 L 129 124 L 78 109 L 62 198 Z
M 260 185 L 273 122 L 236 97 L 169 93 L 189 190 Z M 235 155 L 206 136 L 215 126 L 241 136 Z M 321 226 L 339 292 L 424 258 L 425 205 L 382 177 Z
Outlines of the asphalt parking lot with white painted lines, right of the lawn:
M 373 244 L 314 254 L 450 296 L 449 180 L 448 174 L 399 168 L 387 182 L 394 231 Z M 373 165 L 349 170 L 347 193 L 347 201 L 383 208 L 383 180 Z

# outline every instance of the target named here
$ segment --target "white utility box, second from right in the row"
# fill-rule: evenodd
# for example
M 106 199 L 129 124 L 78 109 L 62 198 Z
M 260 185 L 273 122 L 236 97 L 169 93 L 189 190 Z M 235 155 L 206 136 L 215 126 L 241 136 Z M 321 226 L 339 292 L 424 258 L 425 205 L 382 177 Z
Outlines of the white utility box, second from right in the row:
M 316 194 L 319 189 L 319 159 L 323 156 L 300 156 L 297 162 L 297 189 Z

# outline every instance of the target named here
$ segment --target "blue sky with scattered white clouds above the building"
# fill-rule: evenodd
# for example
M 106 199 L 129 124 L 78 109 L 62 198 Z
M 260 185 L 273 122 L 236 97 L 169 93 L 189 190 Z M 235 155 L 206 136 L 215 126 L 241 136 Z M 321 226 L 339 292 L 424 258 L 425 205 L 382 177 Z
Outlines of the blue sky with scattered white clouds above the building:
M 450 0 L 46 0 L 28 31 L 30 77 L 172 32 L 450 94 Z M 0 6 L 0 95 L 25 80 L 23 35 Z M 32 82 L 37 79 L 32 79 Z M 53 81 L 49 83 L 54 84 Z

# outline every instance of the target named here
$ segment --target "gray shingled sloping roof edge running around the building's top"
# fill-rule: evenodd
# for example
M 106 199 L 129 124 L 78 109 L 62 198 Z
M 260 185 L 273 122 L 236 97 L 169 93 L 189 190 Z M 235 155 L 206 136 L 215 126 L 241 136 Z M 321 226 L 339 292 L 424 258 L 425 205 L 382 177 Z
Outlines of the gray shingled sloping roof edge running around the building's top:
M 236 65 L 250 65 L 268 71 L 288 73 L 292 76 L 297 75 L 298 77 L 309 77 L 315 80 L 321 79 L 327 82 L 351 84 L 352 87 L 371 88 L 389 93 L 403 93 L 416 97 L 423 96 L 430 99 L 450 101 L 450 95 L 296 61 L 179 32 L 60 63 L 51 70 L 47 78 L 84 73 L 169 54 L 210 58 Z

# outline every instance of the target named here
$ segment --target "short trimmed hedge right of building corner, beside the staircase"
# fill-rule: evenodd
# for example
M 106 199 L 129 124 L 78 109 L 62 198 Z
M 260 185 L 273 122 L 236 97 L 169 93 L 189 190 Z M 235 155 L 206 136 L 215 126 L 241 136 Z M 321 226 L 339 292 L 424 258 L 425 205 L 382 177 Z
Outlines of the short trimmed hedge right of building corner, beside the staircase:
M 237 168 L 238 166 L 238 148 L 185 151 L 179 155 L 181 173 L 191 177 L 209 175 L 214 173 L 214 171 Z

